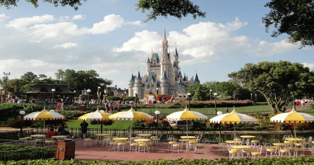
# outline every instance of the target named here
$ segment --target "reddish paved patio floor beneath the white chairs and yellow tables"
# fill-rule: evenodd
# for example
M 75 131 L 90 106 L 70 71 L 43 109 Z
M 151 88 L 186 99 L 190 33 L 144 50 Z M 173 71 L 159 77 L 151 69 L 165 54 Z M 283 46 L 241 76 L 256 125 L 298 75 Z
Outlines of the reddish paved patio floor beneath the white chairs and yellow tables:
M 158 160 L 162 159 L 214 159 L 214 158 L 228 158 L 229 153 L 224 153 L 222 149 L 218 150 L 218 144 L 206 144 L 205 152 L 194 152 L 194 150 L 186 152 L 185 147 L 182 150 L 182 153 L 172 153 L 172 150 L 168 150 L 168 143 L 161 142 L 161 146 L 154 146 L 154 151 L 151 152 L 140 152 L 135 153 L 134 151 L 108 151 L 109 146 L 95 145 L 95 140 L 93 140 L 92 146 L 84 147 L 84 140 L 75 139 L 75 159 L 78 160 L 117 160 L 117 161 L 141 161 L 141 160 Z M 227 150 L 227 148 L 226 148 Z M 252 149 L 256 151 L 256 149 Z M 263 150 L 265 150 L 263 148 Z M 310 151 L 306 151 L 305 155 L 311 154 Z M 293 155 L 293 153 L 291 153 Z M 262 152 L 262 156 L 265 157 L 265 151 Z

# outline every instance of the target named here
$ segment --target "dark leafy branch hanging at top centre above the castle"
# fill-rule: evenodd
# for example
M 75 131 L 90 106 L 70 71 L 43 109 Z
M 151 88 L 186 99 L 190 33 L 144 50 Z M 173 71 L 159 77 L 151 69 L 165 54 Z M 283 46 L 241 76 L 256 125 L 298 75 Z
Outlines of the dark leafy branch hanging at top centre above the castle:
M 146 10 L 149 11 L 144 22 L 151 19 L 156 20 L 158 16 L 167 18 L 168 15 L 180 20 L 182 16 L 186 17 L 188 14 L 192 14 L 193 19 L 206 17 L 206 12 L 200 11 L 199 6 L 189 0 L 139 0 L 136 7 L 136 10 L 140 10 L 142 13 L 145 13 Z

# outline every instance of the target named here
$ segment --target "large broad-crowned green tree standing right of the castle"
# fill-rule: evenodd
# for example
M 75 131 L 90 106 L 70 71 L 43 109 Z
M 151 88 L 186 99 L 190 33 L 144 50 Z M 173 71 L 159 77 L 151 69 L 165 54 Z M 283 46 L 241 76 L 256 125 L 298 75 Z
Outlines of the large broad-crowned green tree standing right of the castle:
M 228 76 L 241 81 L 250 90 L 262 93 L 273 112 L 284 112 L 295 96 L 314 87 L 314 74 L 309 68 L 289 61 L 247 63 Z

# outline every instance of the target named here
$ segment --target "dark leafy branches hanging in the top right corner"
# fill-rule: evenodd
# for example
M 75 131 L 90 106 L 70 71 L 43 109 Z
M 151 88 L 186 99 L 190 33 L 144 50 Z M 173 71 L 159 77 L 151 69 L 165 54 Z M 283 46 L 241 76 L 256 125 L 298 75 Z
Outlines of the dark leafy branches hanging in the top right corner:
M 272 37 L 288 34 L 289 43 L 301 43 L 300 48 L 314 45 L 314 2 L 312 0 L 271 0 L 264 5 L 270 8 L 263 17 L 266 32 L 273 25 Z

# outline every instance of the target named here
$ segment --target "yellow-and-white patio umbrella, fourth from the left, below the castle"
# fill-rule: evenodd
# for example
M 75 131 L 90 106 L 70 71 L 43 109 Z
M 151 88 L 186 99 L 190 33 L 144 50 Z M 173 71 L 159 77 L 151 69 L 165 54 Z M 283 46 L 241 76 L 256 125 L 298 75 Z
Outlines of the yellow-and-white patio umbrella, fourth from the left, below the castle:
M 195 112 L 195 111 L 190 111 L 187 107 L 185 107 L 185 109 L 183 111 L 179 111 L 179 112 L 174 112 L 172 114 L 169 114 L 167 116 L 168 120 L 206 120 L 208 119 L 208 117 L 204 114 L 201 114 L 199 112 Z M 188 131 L 187 131 L 188 132 Z M 188 133 L 187 133 L 188 136 Z

